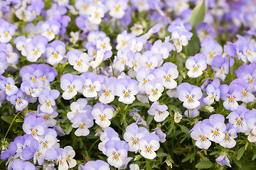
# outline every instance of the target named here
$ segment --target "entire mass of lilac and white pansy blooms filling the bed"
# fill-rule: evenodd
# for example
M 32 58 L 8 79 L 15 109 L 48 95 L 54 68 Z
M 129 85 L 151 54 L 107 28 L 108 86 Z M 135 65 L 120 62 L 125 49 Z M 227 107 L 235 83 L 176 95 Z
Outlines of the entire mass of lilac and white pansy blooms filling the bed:
M 38 62 L 42 57 L 43 62 L 53 66 L 68 62 L 81 73 L 67 73 L 60 78 L 63 99 L 71 100 L 78 93 L 85 97 L 70 103 L 67 117 L 72 127 L 77 128 L 75 135 L 78 137 L 89 135 L 89 128 L 92 128 L 95 120 L 101 129 L 98 148 L 106 155 L 108 164 L 101 160 L 90 161 L 80 165 L 79 169 L 110 169 L 110 165 L 126 169 L 132 160 L 128 152 L 139 152 L 146 159 L 154 159 L 160 147 L 159 142 L 165 142 L 166 134 L 159 128 L 150 132 L 136 108 L 135 112 L 130 113 L 136 123 L 127 126 L 122 137 L 124 140 L 121 140 L 120 135 L 110 128 L 115 111 L 111 103 L 115 98 L 125 104 L 132 104 L 135 100 L 151 103 L 147 113 L 154 115 L 157 123 L 163 122 L 170 115 L 168 106 L 159 102 L 165 91 L 169 98 L 178 98 L 183 102 L 183 107 L 187 109 L 184 115 L 188 118 L 196 118 L 202 106 L 210 106 L 221 99 L 225 109 L 232 111 L 226 117 L 229 123 L 225 124 L 225 117 L 220 114 L 210 115 L 210 118 L 196 123 L 191 129 L 191 137 L 196 140 L 196 146 L 208 149 L 212 141 L 222 147 L 233 148 L 238 132 L 248 135 L 250 142 L 256 142 L 256 111 L 245 108 L 246 103 L 255 101 L 256 91 L 256 47 L 253 40 L 256 35 L 255 9 L 247 11 L 248 6 L 253 6 L 254 2 L 243 1 L 245 4 L 242 7 L 234 2 L 231 8 L 226 1 L 206 1 L 208 13 L 203 23 L 196 27 L 196 34 L 201 41 L 201 53 L 188 57 L 185 63 L 190 78 L 201 77 L 203 71 L 209 69 L 215 72 L 214 79 L 207 79 L 201 87 L 186 82 L 178 84 L 180 70 L 176 64 L 166 62 L 171 57 L 170 52 L 181 52 L 193 36 L 193 27 L 188 23 L 192 11 L 189 1 L 174 3 L 131 0 L 132 6 L 129 6 L 127 0 L 79 0 L 75 1 L 74 6 L 69 1 L 54 2 L 47 10 L 43 9 L 45 3 L 41 0 L 1 2 L 0 15 L 3 18 L 15 13 L 21 21 L 31 22 L 39 16 L 43 16 L 46 21 L 27 23 L 22 30 L 25 36 L 16 36 L 18 27 L 0 18 L 0 74 L 4 74 L 8 67 L 15 68 L 20 55 L 26 57 L 28 62 Z M 198 4 L 198 1 L 193 2 Z M 228 8 L 228 11 L 219 13 L 218 10 L 223 8 Z M 139 23 L 134 23 L 130 30 L 125 29 L 130 25 L 131 13 L 134 11 L 152 12 L 150 21 L 155 24 L 146 33 L 145 26 Z M 165 11 L 173 11 L 175 20 L 171 21 Z M 70 36 L 65 35 L 71 21 L 68 13 L 76 16 L 76 26 L 82 33 L 70 32 Z M 218 28 L 220 33 L 235 33 L 241 26 L 250 30 L 245 32 L 245 36 L 238 35 L 236 42 L 227 42 L 223 53 L 223 47 L 215 40 L 216 32 L 212 26 L 214 17 L 217 23 L 221 23 L 223 18 L 230 23 L 228 28 Z M 109 35 L 100 30 L 100 24 L 114 22 L 124 31 L 112 42 Z M 166 36 L 166 30 L 171 36 Z M 165 40 L 151 42 L 153 35 Z M 64 42 L 58 40 L 60 36 Z M 67 52 L 68 43 L 65 42 L 75 45 L 78 40 L 84 40 L 82 47 L 87 52 L 78 49 Z M 102 62 L 111 59 L 114 50 L 117 53 L 113 62 L 107 67 L 100 67 Z M 235 70 L 238 79 L 229 85 L 222 84 L 221 81 L 225 81 L 230 73 L 230 67 L 235 64 L 235 57 L 245 63 Z M 77 165 L 73 159 L 73 148 L 66 146 L 62 149 L 58 144 L 57 135 L 65 135 L 60 126 L 56 125 L 55 119 L 58 117 L 55 100 L 60 96 L 60 91 L 50 89 L 50 82 L 55 80 L 58 72 L 47 64 L 22 67 L 19 71 L 22 79 L 19 88 L 16 79 L 0 76 L 0 103 L 7 100 L 17 111 L 23 111 L 28 103 L 40 103 L 36 113 L 28 113 L 24 119 L 22 128 L 26 135 L 16 137 L 9 149 L 1 153 L 1 159 L 8 158 L 8 169 L 16 169 L 18 166 L 36 169 L 36 164 L 43 166 L 43 169 L 54 169 L 55 165 L 58 169 L 69 169 Z M 98 74 L 88 72 L 90 68 L 97 70 Z M 180 74 L 183 72 L 180 71 Z M 87 100 L 92 98 L 98 98 L 99 103 L 94 106 L 87 104 Z M 240 101 L 242 105 L 238 104 Z M 180 113 L 175 113 L 176 123 L 181 118 Z M 33 164 L 29 160 L 33 160 Z M 220 165 L 224 165 L 223 161 L 230 166 L 225 155 L 216 159 Z M 139 169 L 139 166 L 130 164 L 129 168 Z

